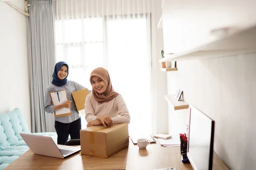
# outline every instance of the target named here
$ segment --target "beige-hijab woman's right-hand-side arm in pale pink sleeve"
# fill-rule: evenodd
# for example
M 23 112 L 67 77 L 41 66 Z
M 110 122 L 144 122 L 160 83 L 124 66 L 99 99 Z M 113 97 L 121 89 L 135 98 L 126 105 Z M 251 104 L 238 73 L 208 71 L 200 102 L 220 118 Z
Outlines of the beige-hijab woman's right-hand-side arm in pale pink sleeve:
M 111 118 L 114 124 L 130 123 L 130 114 L 121 95 L 116 96 L 117 111 L 120 116 Z

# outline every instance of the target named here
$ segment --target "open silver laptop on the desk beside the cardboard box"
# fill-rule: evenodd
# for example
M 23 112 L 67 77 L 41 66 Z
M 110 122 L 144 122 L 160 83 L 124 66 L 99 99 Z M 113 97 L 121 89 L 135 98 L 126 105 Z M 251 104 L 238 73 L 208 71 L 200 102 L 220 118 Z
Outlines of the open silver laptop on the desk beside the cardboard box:
M 55 158 L 67 158 L 81 150 L 81 147 L 55 144 L 50 136 L 39 136 L 34 134 L 20 133 L 20 136 L 33 153 Z

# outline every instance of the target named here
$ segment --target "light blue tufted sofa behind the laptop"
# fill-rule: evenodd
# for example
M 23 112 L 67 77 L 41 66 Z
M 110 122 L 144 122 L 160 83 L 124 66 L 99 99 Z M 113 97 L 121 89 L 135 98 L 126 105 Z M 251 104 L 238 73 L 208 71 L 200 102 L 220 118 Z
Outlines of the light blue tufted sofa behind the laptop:
M 20 109 L 0 114 L 0 170 L 29 150 L 20 133 L 31 133 Z M 55 132 L 33 134 L 51 136 L 57 143 Z

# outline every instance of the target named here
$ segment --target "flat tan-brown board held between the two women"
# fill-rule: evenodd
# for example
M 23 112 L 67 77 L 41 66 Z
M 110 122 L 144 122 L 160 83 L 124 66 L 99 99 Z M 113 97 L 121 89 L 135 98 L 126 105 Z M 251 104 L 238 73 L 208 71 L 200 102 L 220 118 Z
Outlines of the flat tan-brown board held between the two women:
M 76 104 L 77 111 L 81 111 L 84 109 L 85 98 L 88 94 L 89 91 L 87 88 L 72 93 L 72 97 Z

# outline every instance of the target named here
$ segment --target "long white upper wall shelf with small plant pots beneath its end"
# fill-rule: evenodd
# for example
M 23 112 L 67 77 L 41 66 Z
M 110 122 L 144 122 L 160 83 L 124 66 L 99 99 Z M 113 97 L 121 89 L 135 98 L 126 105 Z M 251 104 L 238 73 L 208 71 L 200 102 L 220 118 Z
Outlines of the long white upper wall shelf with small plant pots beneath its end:
M 256 51 L 256 26 L 228 35 L 198 48 L 177 54 L 165 54 L 159 62 L 206 59 Z

